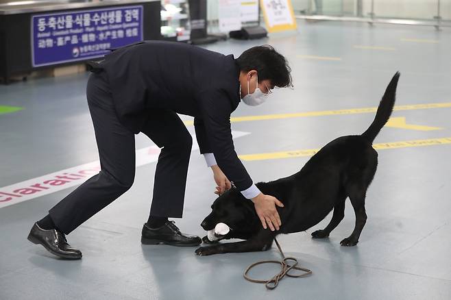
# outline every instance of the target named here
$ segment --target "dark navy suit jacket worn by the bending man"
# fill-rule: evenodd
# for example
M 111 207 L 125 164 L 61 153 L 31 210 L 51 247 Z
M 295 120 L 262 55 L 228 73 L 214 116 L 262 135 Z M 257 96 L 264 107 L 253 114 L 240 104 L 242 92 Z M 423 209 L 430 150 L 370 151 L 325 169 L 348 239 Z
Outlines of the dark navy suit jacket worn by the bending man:
M 179 42 L 146 41 L 109 53 L 97 67 L 108 74 L 125 127 L 140 132 L 149 110 L 194 116 L 201 153 L 214 153 L 223 173 L 240 190 L 252 185 L 230 129 L 230 114 L 240 102 L 233 55 Z

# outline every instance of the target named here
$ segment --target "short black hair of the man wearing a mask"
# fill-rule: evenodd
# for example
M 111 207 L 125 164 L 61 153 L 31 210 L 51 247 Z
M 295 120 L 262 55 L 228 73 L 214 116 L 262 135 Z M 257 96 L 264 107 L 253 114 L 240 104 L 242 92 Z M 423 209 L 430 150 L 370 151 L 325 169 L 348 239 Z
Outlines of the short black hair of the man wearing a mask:
M 247 49 L 236 58 L 236 64 L 240 71 L 256 70 L 259 82 L 269 79 L 271 84 L 280 88 L 293 86 L 287 59 L 270 45 Z

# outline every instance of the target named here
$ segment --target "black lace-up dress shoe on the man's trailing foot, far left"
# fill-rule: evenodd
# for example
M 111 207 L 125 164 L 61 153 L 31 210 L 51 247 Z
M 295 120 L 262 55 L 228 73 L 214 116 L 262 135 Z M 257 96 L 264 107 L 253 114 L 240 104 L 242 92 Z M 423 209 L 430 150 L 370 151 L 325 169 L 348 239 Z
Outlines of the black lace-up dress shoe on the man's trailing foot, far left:
M 28 240 L 36 245 L 44 246 L 47 251 L 68 260 L 80 260 L 82 252 L 73 249 L 67 243 L 66 236 L 56 229 L 45 230 L 39 227 L 38 223 L 34 223 L 32 230 L 29 232 Z

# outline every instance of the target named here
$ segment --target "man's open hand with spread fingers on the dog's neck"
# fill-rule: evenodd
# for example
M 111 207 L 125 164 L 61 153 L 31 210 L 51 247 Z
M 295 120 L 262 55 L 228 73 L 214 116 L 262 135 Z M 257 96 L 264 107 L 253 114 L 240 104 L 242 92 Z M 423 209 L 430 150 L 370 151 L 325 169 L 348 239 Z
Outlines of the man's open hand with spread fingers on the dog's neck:
M 274 229 L 279 230 L 282 222 L 280 221 L 279 213 L 276 210 L 276 205 L 283 208 L 283 203 L 278 201 L 276 197 L 265 195 L 261 192 L 257 197 L 252 198 L 252 202 L 254 202 L 255 210 L 258 218 L 260 218 L 260 221 L 262 222 L 263 228 L 267 229 L 267 227 L 269 227 L 271 232 L 273 232 Z

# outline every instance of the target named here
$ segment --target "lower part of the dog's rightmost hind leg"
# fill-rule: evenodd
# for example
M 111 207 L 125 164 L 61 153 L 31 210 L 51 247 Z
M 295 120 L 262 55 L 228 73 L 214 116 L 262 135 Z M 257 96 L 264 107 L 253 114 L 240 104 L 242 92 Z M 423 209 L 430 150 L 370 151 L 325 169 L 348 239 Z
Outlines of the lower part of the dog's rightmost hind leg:
M 367 192 L 367 186 L 351 186 L 350 187 L 350 200 L 354 212 L 356 214 L 356 225 L 354 231 L 348 238 L 345 238 L 340 242 L 341 246 L 355 246 L 358 243 L 358 238 L 361 235 L 362 229 L 367 222 L 367 214 L 365 212 L 365 197 Z

